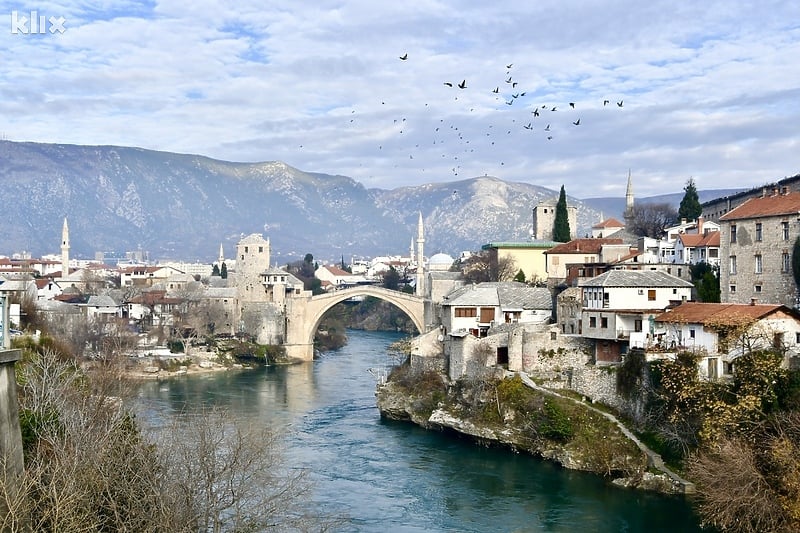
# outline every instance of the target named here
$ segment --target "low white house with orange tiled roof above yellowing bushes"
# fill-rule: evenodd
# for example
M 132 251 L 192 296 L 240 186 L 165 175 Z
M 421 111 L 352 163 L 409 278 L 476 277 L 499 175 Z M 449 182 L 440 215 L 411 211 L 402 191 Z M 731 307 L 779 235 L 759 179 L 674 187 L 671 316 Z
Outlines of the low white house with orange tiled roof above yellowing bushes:
M 695 352 L 705 379 L 731 377 L 745 349 L 778 348 L 787 367 L 800 355 L 800 313 L 785 305 L 685 302 L 656 315 L 654 322 L 648 359 Z M 743 331 L 731 333 L 731 327 Z

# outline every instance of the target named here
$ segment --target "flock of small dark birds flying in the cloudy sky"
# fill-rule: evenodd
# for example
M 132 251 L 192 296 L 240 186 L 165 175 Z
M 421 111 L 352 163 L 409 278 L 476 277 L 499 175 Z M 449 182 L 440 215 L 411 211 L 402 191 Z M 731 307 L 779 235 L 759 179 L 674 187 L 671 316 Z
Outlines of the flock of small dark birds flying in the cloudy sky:
M 403 53 L 398 58 L 402 62 L 410 61 L 408 53 Z M 434 109 L 434 106 L 425 103 L 425 112 L 414 114 L 412 119 L 402 115 L 392 117 L 391 124 L 385 124 L 380 131 L 375 132 L 375 137 L 378 139 L 376 149 L 380 154 L 404 150 L 409 160 L 414 160 L 415 156 L 418 160 L 424 159 L 422 156 L 427 156 L 425 159 L 427 161 L 434 155 L 430 151 L 436 150 L 435 155 L 438 159 L 450 161 L 448 166 L 454 176 L 459 175 L 462 161 L 471 158 L 470 171 L 474 173 L 473 175 L 478 175 L 486 172 L 478 172 L 476 164 L 483 164 L 484 168 L 494 167 L 490 168 L 493 172 L 498 167 L 505 166 L 501 154 L 507 152 L 500 150 L 500 147 L 507 147 L 509 143 L 522 139 L 525 144 L 520 146 L 520 150 L 530 150 L 531 141 L 518 137 L 521 134 L 541 132 L 542 142 L 550 142 L 557 136 L 565 134 L 567 127 L 579 128 L 585 125 L 579 115 L 577 102 L 533 105 L 531 91 L 524 90 L 521 82 L 515 77 L 513 67 L 513 63 L 506 64 L 505 75 L 499 78 L 497 83 L 484 86 L 483 89 L 475 89 L 465 78 L 442 81 L 441 86 L 445 90 L 455 91 L 454 94 L 451 93 L 455 107 L 447 108 L 440 103 Z M 398 107 L 407 108 L 409 104 L 413 102 L 403 101 Z M 385 106 L 386 100 L 381 100 L 380 105 Z M 622 99 L 602 100 L 602 108 L 621 109 L 623 106 Z M 386 107 L 396 109 L 391 106 Z M 353 109 L 349 117 L 350 125 L 357 125 L 358 119 L 359 115 Z M 413 135 L 409 135 L 409 132 L 413 132 Z M 476 132 L 481 133 L 477 136 Z M 412 137 L 414 140 L 411 143 L 402 140 Z M 480 155 L 476 153 L 476 149 Z M 473 164 L 476 159 L 492 157 L 492 150 L 496 150 L 499 159 L 493 163 L 484 161 Z M 394 165 L 399 167 L 403 163 L 397 158 Z M 421 164 L 419 166 L 415 164 L 412 168 L 425 172 Z

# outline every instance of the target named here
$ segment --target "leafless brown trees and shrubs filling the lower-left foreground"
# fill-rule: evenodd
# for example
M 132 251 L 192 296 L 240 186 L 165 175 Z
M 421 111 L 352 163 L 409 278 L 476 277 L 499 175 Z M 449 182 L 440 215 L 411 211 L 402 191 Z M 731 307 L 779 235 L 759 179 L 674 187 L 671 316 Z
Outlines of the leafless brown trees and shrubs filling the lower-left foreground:
M 0 479 L 0 507 L 8 511 L 0 530 L 325 531 L 336 524 L 310 508 L 306 472 L 288 463 L 279 433 L 217 410 L 143 432 L 124 398 L 97 383 L 101 371 L 85 374 L 51 350 L 26 354 L 26 469 L 21 480 Z

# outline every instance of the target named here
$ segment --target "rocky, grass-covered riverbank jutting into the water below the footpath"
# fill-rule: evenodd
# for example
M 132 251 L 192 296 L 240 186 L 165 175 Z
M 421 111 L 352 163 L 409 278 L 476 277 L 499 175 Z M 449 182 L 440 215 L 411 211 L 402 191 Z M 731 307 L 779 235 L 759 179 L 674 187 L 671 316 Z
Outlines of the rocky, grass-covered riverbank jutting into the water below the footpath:
M 454 431 L 481 445 L 530 453 L 621 486 L 690 492 L 676 476 L 653 468 L 648 453 L 603 413 L 535 390 L 519 376 L 448 383 L 438 373 L 406 367 L 378 387 L 376 398 L 388 419 Z

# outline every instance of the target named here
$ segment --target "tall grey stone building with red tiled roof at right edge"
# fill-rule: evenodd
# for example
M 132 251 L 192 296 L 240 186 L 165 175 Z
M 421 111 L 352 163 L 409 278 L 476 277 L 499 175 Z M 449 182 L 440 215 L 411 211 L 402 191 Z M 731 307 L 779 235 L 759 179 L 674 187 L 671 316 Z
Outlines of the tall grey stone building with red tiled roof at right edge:
M 720 217 L 721 300 L 729 303 L 797 303 L 792 274 L 800 237 L 800 192 L 777 189 L 750 198 Z

